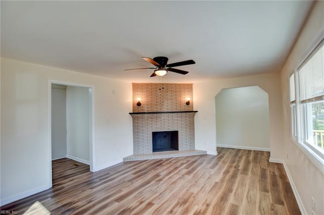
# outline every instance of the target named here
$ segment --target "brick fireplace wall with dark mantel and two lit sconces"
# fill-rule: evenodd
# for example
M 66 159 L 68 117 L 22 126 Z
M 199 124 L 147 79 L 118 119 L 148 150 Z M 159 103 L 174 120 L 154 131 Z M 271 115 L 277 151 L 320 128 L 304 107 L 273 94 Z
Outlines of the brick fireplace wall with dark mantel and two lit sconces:
M 134 155 L 152 153 L 153 132 L 161 131 L 177 131 L 179 151 L 194 150 L 192 100 L 192 84 L 133 83 Z

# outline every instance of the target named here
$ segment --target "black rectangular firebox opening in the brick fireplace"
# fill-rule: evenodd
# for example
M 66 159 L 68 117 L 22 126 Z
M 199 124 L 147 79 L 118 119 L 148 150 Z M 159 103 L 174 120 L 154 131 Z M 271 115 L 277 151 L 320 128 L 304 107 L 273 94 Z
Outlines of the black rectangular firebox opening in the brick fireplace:
M 153 152 L 179 150 L 178 131 L 152 132 Z

